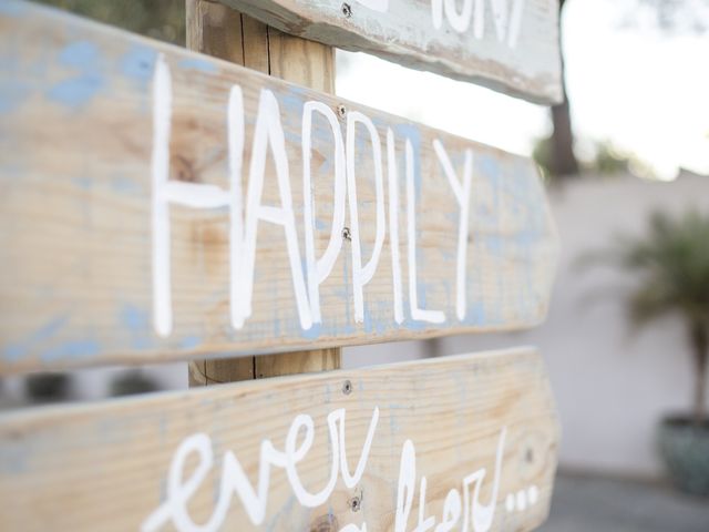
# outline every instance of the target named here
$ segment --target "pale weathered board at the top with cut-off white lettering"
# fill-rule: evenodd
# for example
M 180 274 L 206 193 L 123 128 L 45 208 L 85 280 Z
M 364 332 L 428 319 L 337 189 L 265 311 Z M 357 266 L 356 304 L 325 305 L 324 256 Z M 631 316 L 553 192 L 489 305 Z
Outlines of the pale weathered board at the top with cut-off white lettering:
M 533 102 L 562 98 L 558 0 L 219 1 L 333 47 Z

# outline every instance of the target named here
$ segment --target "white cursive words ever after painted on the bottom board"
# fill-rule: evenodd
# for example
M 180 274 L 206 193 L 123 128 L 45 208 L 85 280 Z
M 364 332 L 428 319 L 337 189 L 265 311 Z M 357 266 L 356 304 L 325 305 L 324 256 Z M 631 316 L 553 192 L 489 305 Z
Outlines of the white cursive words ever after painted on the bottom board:
M 244 505 L 246 514 L 254 525 L 260 525 L 266 519 L 268 504 L 268 489 L 270 483 L 270 469 L 280 468 L 286 471 L 288 483 L 297 501 L 305 508 L 317 508 L 325 504 L 332 494 L 338 479 L 348 489 L 353 489 L 362 479 L 367 461 L 371 450 L 374 432 L 379 422 L 379 408 L 374 408 L 367 431 L 367 437 L 360 452 L 354 473 L 350 473 L 345 440 L 346 410 L 338 409 L 328 415 L 328 431 L 330 441 L 331 467 L 327 484 L 317 493 L 309 492 L 302 484 L 297 466 L 302 461 L 312 447 L 314 421 L 310 416 L 298 415 L 290 424 L 286 436 L 285 450 L 277 450 L 270 440 L 265 439 L 260 446 L 260 461 L 258 469 L 258 484 L 256 489 L 250 484 L 244 468 L 232 451 L 226 451 L 223 457 L 222 479 L 215 509 L 208 521 L 204 524 L 195 523 L 188 514 L 187 505 L 191 498 L 199 489 L 207 473 L 214 467 L 214 453 L 212 440 L 205 433 L 196 433 L 186 438 L 175 451 L 167 474 L 166 500 L 142 523 L 143 532 L 152 532 L 161 529 L 167 522 L 181 532 L 212 532 L 217 531 L 225 523 L 230 505 L 232 494 L 236 493 Z M 298 444 L 298 438 L 305 431 L 302 441 Z M 482 483 L 487 475 L 485 468 L 479 469 L 466 475 L 462 481 L 462 493 L 458 489 L 451 489 L 445 497 L 441 522 L 436 525 L 435 516 L 425 516 L 427 479 L 421 477 L 419 483 L 419 515 L 417 528 L 412 532 L 448 532 L 459 526 L 462 519 L 462 532 L 487 532 L 495 515 L 496 501 L 502 472 L 502 457 L 504 451 L 506 429 L 500 434 L 495 470 L 490 502 L 480 502 Z M 188 479 L 183 479 L 185 464 L 191 454 L 196 454 L 198 463 Z M 397 508 L 394 512 L 394 531 L 407 532 L 409 516 L 413 505 L 415 492 L 417 466 L 415 450 L 411 440 L 405 440 L 401 451 L 399 481 L 397 490 Z M 472 488 L 472 497 L 471 497 Z M 435 528 L 434 528 L 435 526 Z M 361 526 L 348 524 L 340 532 L 366 532 L 367 523 Z

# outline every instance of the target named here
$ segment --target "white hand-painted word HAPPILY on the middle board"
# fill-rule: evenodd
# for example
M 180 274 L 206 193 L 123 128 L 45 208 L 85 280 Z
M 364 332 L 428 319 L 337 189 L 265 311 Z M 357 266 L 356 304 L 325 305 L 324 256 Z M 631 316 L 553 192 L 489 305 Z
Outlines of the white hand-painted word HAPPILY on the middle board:
M 172 285 L 171 285 L 171 226 L 169 205 L 193 208 L 227 208 L 229 212 L 229 303 L 230 323 L 235 329 L 244 327 L 251 316 L 254 269 L 259 222 L 268 222 L 282 227 L 288 250 L 299 324 L 304 330 L 322 321 L 319 287 L 330 275 L 342 247 L 341 231 L 345 225 L 346 202 L 349 206 L 351 226 L 352 291 L 354 321 L 364 320 L 364 286 L 374 276 L 381 257 L 382 246 L 389 224 L 389 239 L 392 264 L 392 304 L 394 320 L 402 324 L 403 294 L 401 254 L 399 242 L 399 174 L 395 160 L 395 139 L 391 129 L 387 132 L 387 178 L 389 188 L 389 219 L 384 211 L 384 171 L 381 140 L 372 121 L 363 113 L 347 113 L 347 131 L 343 137 L 338 119 L 329 105 L 308 101 L 302 109 L 302 191 L 305 266 L 296 233 L 296 218 L 290 187 L 289 164 L 278 101 L 267 89 L 260 91 L 256 125 L 251 141 L 248 190 L 242 187 L 244 166 L 245 116 L 244 96 L 240 86 L 234 85 L 229 92 L 227 106 L 227 134 L 229 161 L 229 190 L 199 183 L 169 180 L 169 136 L 172 121 L 172 76 L 164 58 L 158 58 L 153 84 L 153 154 L 152 154 L 152 277 L 153 314 L 155 330 L 161 336 L 172 331 Z M 321 257 L 315 253 L 315 201 L 311 187 L 311 133 L 315 114 L 323 116 L 331 129 L 333 151 L 333 215 L 328 246 Z M 373 153 L 376 184 L 376 238 L 369 260 L 363 263 L 362 244 L 359 237 L 359 216 L 356 180 L 356 135 L 357 127 L 364 127 Z M 268 152 L 275 163 L 280 205 L 264 205 L 261 196 Z M 405 139 L 405 191 L 407 191 L 407 241 L 409 272 L 409 307 L 413 320 L 442 324 L 445 315 L 440 310 L 419 306 L 415 244 L 415 188 L 414 158 L 411 141 Z M 473 153 L 465 152 L 462 176 L 458 176 L 451 160 L 439 140 L 433 141 L 434 152 L 456 198 L 460 208 L 456 262 L 456 315 L 463 320 L 466 315 L 465 275 L 467 256 L 469 208 L 473 175 Z

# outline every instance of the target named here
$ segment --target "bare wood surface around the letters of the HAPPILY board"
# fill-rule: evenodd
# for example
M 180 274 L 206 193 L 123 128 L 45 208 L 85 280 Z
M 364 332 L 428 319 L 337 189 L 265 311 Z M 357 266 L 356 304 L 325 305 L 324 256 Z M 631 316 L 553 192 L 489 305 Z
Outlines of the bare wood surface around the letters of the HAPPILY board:
M 171 183 L 228 185 L 226 110 L 244 93 L 244 165 L 251 158 L 258 101 L 270 91 L 280 108 L 300 253 L 304 244 L 301 114 L 317 101 L 340 124 L 353 111 L 393 132 L 397 186 L 384 186 L 386 238 L 354 318 L 353 242 L 362 262 L 377 229 L 373 156 L 366 129 L 354 135 L 359 234 L 342 239 L 320 285 L 322 323 L 304 328 L 296 308 L 285 229 L 261 221 L 256 242 L 253 314 L 229 318 L 229 215 L 225 209 L 169 208 L 173 330 L 153 319 L 151 231 L 153 78 L 157 58 L 172 72 Z M 224 61 L 130 35 L 25 2 L 0 10 L 0 372 L 96 364 L 253 356 L 397 339 L 532 327 L 546 314 L 557 238 L 535 166 L 526 158 L 428 129 L 401 117 L 292 85 Z M 287 61 L 281 66 L 288 68 Z M 332 133 L 312 131 L 315 252 L 332 229 Z M 473 157 L 463 300 L 456 314 L 461 209 L 433 150 L 441 141 L 456 178 Z M 412 145 L 407 201 L 404 142 Z M 243 188 L 248 188 L 248 170 Z M 399 206 L 389 209 L 391 192 Z M 354 198 L 354 196 L 351 196 Z M 348 202 L 350 196 L 348 195 Z M 266 161 L 264 205 L 279 205 L 274 163 Z M 413 216 L 408 216 L 411 205 Z M 348 213 L 345 224 L 352 227 Z M 389 224 L 392 213 L 398 223 Z M 248 214 L 248 212 L 247 212 Z M 415 243 L 408 241 L 413 223 Z M 394 319 L 391 228 L 398 227 L 403 320 Z M 464 224 L 463 224 L 464 227 Z M 335 227 L 340 235 L 347 227 Z M 343 234 L 343 233 L 342 233 Z M 462 233 L 461 233 L 462 234 Z M 359 237 L 359 238 L 358 238 Z M 338 236 L 339 238 L 339 236 Z M 408 256 L 418 263 L 417 276 Z M 299 264 L 299 263 L 296 263 Z M 413 264 L 413 263 L 411 263 Z M 418 306 L 443 313 L 434 324 Z

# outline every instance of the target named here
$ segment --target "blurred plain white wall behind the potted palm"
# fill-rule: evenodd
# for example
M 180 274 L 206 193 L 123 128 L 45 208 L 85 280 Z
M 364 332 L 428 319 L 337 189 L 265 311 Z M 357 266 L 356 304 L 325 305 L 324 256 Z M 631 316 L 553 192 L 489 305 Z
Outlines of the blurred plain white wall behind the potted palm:
M 538 346 L 562 419 L 562 466 L 658 475 L 657 420 L 691 403 L 684 329 L 666 319 L 633 334 L 620 289 L 631 276 L 600 266 L 582 272 L 577 257 L 607 247 L 618 233 L 641 233 L 654 209 L 709 212 L 709 178 L 579 180 L 552 191 L 551 202 L 563 252 L 547 323 L 528 332 L 441 339 L 438 352 Z

